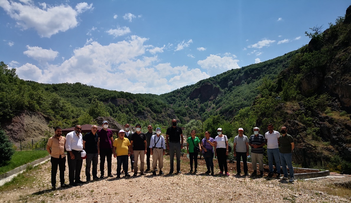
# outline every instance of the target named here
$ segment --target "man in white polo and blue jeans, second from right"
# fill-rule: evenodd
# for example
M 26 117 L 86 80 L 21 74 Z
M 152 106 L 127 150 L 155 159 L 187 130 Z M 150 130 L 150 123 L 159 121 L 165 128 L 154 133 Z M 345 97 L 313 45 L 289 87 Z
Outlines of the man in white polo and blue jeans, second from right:
M 268 177 L 273 177 L 273 157 L 276 162 L 277 169 L 277 178 L 280 177 L 280 162 L 279 162 L 279 137 L 280 133 L 273 130 L 273 124 L 268 124 L 268 132 L 265 134 L 265 139 L 267 142 L 267 156 L 268 156 L 268 165 L 269 165 L 269 174 Z

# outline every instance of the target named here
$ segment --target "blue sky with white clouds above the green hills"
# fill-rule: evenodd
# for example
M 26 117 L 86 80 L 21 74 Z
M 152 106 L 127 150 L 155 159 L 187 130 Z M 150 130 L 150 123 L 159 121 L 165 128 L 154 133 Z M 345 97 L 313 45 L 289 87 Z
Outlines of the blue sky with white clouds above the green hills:
M 25 80 L 162 94 L 296 50 L 349 5 L 0 0 L 0 60 Z

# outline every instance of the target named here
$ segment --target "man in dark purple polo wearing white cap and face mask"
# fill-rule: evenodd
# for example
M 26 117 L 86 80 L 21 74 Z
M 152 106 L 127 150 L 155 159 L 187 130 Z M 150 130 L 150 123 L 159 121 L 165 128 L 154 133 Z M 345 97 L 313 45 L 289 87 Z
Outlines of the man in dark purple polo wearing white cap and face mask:
M 112 131 L 107 129 L 108 122 L 104 120 L 102 122 L 102 129 L 98 131 L 98 153 L 100 154 L 100 178 L 104 178 L 105 173 L 105 158 L 107 161 L 107 177 L 113 177 L 112 171 L 112 145 L 113 145 L 113 135 Z

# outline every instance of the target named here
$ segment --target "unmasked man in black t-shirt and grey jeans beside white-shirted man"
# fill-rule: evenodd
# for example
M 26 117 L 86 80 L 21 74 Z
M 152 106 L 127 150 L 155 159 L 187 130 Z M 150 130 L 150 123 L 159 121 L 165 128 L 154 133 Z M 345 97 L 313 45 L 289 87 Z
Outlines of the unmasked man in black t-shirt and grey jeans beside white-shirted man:
M 90 166 L 93 162 L 93 180 L 98 180 L 98 126 L 92 125 L 91 132 L 88 132 L 83 137 L 83 148 L 87 153 L 86 166 L 85 166 L 85 176 L 87 177 L 87 182 L 90 181 Z

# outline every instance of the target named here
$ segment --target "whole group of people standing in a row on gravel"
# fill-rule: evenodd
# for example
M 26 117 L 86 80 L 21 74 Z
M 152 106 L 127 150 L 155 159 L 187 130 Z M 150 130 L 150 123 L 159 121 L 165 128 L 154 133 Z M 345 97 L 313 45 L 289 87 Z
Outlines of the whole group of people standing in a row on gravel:
M 249 145 L 251 146 L 252 157 L 252 175 L 257 173 L 257 161 L 259 163 L 260 175 L 263 175 L 263 146 L 267 143 L 267 155 L 269 160 L 269 177 L 273 176 L 273 157 L 276 162 L 277 177 L 288 179 L 286 165 L 289 167 L 290 181 L 294 181 L 291 152 L 294 148 L 293 138 L 287 134 L 285 126 L 282 127 L 282 135 L 273 130 L 273 125 L 268 125 L 269 131 L 266 132 L 265 137 L 259 134 L 259 128 L 253 129 L 254 135 L 248 139 L 243 135 L 244 130 L 239 128 L 238 136 L 234 138 L 234 156 L 237 160 L 237 175 L 240 175 L 240 160 L 243 159 L 244 174 L 248 174 L 247 156 L 249 156 Z M 51 155 L 51 184 L 52 189 L 56 189 L 56 174 L 57 169 L 60 170 L 61 187 L 70 187 L 84 184 L 80 180 L 80 172 L 82 168 L 83 159 L 86 159 L 85 175 L 86 181 L 91 181 L 91 166 L 92 179 L 98 180 L 104 178 L 105 175 L 105 160 L 107 161 L 107 177 L 112 175 L 112 155 L 117 159 L 117 178 L 120 178 L 124 173 L 125 177 L 130 177 L 128 173 L 128 162 L 131 162 L 131 171 L 133 176 L 146 175 L 145 172 L 152 170 L 152 175 L 157 175 L 159 168 L 159 175 L 163 175 L 163 157 L 166 148 L 170 152 L 170 171 L 168 174 L 174 172 L 174 155 L 176 155 L 177 168 L 176 173 L 180 171 L 180 156 L 183 148 L 183 131 L 177 126 L 177 120 L 172 120 L 172 126 L 168 127 L 166 131 L 166 138 L 161 135 L 161 129 L 158 127 L 153 131 L 152 125 L 147 126 L 147 132 L 141 132 L 141 125 L 135 125 L 135 132 L 130 131 L 129 124 L 125 124 L 125 130 L 118 132 L 118 137 L 113 139 L 112 131 L 108 129 L 108 122 L 102 122 L 102 129 L 98 130 L 98 126 L 92 125 L 91 132 L 84 136 L 81 134 L 81 126 L 76 125 L 74 131 L 67 133 L 66 137 L 62 136 L 62 129 L 55 128 L 55 136 L 48 139 L 47 151 Z M 196 131 L 191 131 L 191 137 L 187 139 L 187 153 L 190 159 L 190 172 L 197 172 L 197 158 L 198 153 L 202 152 L 206 162 L 207 174 L 214 175 L 213 171 L 213 157 L 216 156 L 220 172 L 229 176 L 227 168 L 227 155 L 229 154 L 229 144 L 227 136 L 222 134 L 222 129 L 218 128 L 214 139 L 210 132 L 205 132 L 205 138 L 201 141 L 196 137 Z M 280 148 L 279 145 L 280 144 Z M 69 185 L 65 184 L 65 167 L 66 155 L 68 162 L 68 177 Z M 100 155 L 100 177 L 97 175 L 98 158 Z M 144 159 L 146 155 L 147 168 L 144 171 Z M 152 165 L 150 165 L 150 156 L 152 156 Z M 129 157 L 129 158 L 128 158 Z M 280 175 L 280 161 L 283 166 L 284 176 Z M 140 159 L 140 169 L 138 168 L 138 159 Z M 194 162 L 194 170 L 193 170 Z M 122 171 L 121 171 L 122 170 Z

